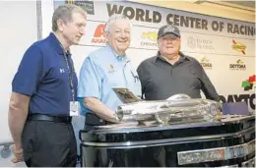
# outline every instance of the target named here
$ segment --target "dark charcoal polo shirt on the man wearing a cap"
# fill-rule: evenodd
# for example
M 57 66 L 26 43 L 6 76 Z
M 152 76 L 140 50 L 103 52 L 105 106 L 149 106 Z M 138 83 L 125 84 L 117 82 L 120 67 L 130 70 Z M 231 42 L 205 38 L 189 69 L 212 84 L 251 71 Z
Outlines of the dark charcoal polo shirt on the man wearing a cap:
M 173 65 L 160 55 L 144 60 L 137 72 L 142 83 L 142 94 L 147 100 L 162 100 L 171 95 L 184 93 L 191 98 L 206 98 L 219 101 L 219 95 L 201 64 L 192 57 L 179 53 Z

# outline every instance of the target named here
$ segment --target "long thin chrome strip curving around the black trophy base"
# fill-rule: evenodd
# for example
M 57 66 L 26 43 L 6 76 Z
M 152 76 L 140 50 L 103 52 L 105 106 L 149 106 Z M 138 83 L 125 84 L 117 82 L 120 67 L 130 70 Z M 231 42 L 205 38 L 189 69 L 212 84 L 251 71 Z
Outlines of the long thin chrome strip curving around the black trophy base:
M 196 141 L 209 141 L 209 140 L 223 140 L 228 137 L 240 137 L 244 133 L 254 132 L 255 127 L 248 128 L 242 130 L 237 133 L 223 134 L 223 135 L 213 135 L 213 136 L 196 136 L 196 137 L 188 137 L 188 138 L 177 138 L 177 139 L 162 139 L 162 140 L 144 140 L 144 141 L 126 141 L 126 142 L 90 142 L 83 141 L 82 143 L 90 146 L 98 146 L 98 147 L 112 147 L 112 146 L 133 146 L 142 147 L 142 146 L 158 146 L 163 143 L 183 143 L 183 142 L 196 142 Z M 193 141 L 192 141 L 193 140 Z M 118 147 L 116 147 L 118 148 Z

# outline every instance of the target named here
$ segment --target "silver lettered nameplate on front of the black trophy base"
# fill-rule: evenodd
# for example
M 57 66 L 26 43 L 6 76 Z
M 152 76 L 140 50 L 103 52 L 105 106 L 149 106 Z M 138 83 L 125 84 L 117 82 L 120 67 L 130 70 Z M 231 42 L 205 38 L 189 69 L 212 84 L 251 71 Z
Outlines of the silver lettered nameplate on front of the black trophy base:
M 244 157 L 253 152 L 255 152 L 255 140 L 227 147 L 179 151 L 177 157 L 178 164 L 184 165 Z

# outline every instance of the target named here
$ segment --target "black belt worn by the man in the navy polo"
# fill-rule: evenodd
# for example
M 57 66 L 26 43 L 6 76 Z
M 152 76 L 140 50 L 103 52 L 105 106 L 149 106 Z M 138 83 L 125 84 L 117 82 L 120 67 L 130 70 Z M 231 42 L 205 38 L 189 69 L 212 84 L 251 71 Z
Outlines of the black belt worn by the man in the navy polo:
M 30 114 L 28 121 L 48 121 L 54 123 L 71 123 L 72 117 L 48 116 L 45 114 Z

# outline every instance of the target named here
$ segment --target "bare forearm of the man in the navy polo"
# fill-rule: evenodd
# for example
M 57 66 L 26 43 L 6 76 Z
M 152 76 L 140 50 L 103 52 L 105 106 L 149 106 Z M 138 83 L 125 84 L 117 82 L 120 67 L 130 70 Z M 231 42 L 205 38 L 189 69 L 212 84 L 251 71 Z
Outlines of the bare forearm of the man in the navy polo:
M 22 148 L 22 132 L 28 117 L 30 97 L 20 93 L 12 92 L 8 123 L 15 146 Z

